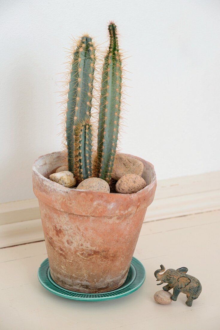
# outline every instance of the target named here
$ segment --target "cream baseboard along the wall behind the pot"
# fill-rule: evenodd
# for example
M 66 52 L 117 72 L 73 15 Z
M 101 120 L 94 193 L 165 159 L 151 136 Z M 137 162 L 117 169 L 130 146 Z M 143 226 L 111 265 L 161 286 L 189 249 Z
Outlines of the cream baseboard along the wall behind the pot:
M 158 181 L 144 222 L 220 210 L 220 171 Z M 0 204 L 0 248 L 43 240 L 37 199 Z

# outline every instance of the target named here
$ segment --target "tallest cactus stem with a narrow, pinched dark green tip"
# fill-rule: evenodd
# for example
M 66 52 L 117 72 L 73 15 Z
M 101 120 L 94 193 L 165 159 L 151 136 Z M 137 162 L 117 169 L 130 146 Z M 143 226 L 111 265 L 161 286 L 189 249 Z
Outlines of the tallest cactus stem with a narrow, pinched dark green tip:
M 107 182 L 111 179 L 115 159 L 122 94 L 122 61 L 116 25 L 110 22 L 108 31 L 110 45 L 102 71 L 95 173 Z

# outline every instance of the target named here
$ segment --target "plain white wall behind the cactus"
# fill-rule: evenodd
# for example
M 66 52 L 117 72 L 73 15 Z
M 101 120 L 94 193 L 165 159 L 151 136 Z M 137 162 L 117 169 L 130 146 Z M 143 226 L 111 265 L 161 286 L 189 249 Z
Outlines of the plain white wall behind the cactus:
M 220 169 L 218 0 L 1 0 L 0 13 L 0 202 L 34 196 L 34 160 L 60 149 L 63 47 L 87 31 L 103 43 L 110 19 L 132 55 L 123 151 L 158 179 Z

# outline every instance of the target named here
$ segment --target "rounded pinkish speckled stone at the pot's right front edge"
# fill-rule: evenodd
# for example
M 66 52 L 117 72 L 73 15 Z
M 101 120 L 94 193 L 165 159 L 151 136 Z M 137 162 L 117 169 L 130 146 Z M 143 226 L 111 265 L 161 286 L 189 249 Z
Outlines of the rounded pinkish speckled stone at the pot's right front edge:
M 147 183 L 139 175 L 126 174 L 115 185 L 117 192 L 121 194 L 134 194 L 146 187 Z

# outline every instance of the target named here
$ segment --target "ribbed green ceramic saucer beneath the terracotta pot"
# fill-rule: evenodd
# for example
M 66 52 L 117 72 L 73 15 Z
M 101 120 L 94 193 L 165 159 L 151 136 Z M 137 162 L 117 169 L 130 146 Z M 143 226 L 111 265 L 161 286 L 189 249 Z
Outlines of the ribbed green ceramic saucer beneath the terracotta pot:
M 81 301 L 102 301 L 117 299 L 136 291 L 144 283 L 145 269 L 142 263 L 132 258 L 126 281 L 120 288 L 105 293 L 80 293 L 62 288 L 50 276 L 48 259 L 45 259 L 38 269 L 38 279 L 41 285 L 57 296 Z

